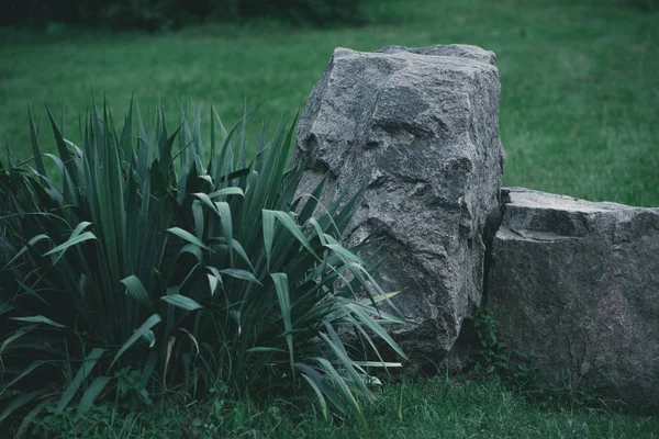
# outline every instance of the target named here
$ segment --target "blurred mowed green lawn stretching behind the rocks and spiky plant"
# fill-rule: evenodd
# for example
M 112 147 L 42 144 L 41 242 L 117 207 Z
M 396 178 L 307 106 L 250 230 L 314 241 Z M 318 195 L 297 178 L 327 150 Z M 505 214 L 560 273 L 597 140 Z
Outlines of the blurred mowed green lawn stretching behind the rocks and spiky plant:
M 0 142 L 30 156 L 27 103 L 64 109 L 78 139 L 90 90 L 115 117 L 161 99 L 175 127 L 187 95 L 227 124 L 263 102 L 291 120 L 337 46 L 467 43 L 494 50 L 504 183 L 659 206 L 659 13 L 626 0 L 383 0 L 375 24 L 338 30 L 206 26 L 171 34 L 0 34 Z M 42 133 L 44 130 L 42 130 Z M 43 135 L 43 134 L 42 134 Z M 256 136 L 256 133 L 253 133 Z M 46 136 L 43 136 L 46 139 Z M 48 139 L 45 146 L 49 146 Z

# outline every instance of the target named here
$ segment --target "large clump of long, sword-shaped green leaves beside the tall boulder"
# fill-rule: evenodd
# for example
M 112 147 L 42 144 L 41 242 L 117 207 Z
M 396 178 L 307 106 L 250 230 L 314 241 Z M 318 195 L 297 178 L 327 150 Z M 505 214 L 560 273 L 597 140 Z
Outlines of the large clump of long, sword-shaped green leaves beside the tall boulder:
M 361 417 L 369 368 L 400 365 L 372 339 L 404 357 L 382 329 L 401 319 L 378 309 L 391 294 L 342 245 L 358 195 L 320 206 L 321 183 L 295 200 L 294 124 L 247 162 L 253 112 L 228 133 L 211 112 L 208 149 L 199 109 L 169 134 L 161 109 L 145 128 L 131 104 L 115 130 L 94 102 L 81 145 L 48 112 L 57 155 L 30 116 L 34 157 L 0 162 L 0 421 L 219 386 Z

